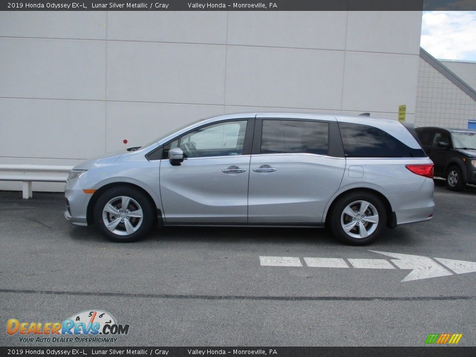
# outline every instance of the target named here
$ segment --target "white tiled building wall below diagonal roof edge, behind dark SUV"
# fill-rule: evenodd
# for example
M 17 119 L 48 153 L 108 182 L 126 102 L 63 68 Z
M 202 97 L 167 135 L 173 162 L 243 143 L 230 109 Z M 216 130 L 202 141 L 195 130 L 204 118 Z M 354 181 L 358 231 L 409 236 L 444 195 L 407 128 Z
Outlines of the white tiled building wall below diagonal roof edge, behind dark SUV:
M 468 128 L 470 119 L 476 119 L 476 101 L 420 59 L 416 126 Z

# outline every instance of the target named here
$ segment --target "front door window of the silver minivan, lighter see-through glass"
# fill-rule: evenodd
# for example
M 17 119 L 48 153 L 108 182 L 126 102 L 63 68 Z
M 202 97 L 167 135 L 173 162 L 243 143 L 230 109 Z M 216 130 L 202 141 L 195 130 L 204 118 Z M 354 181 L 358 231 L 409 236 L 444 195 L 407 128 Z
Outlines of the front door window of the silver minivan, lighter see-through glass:
M 241 155 L 246 124 L 247 120 L 225 121 L 196 129 L 165 145 L 162 158 L 176 147 L 187 158 Z

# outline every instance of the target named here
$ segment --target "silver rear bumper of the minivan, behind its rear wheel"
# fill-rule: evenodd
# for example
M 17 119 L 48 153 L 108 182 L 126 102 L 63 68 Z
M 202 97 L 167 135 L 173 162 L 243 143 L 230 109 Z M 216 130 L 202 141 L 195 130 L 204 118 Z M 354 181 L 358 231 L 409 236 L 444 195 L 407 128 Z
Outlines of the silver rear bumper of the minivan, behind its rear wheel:
M 388 196 L 397 225 L 427 221 L 433 218 L 434 182 L 426 178 L 418 191 Z

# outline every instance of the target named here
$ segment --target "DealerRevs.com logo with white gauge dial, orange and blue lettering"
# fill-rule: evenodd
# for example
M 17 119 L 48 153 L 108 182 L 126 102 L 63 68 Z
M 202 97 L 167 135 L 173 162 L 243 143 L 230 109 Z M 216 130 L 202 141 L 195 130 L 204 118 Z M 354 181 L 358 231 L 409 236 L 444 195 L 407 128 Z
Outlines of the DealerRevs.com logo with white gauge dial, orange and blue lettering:
M 72 315 L 62 322 L 25 322 L 9 319 L 6 333 L 18 335 L 20 342 L 49 343 L 114 343 L 117 335 L 127 335 L 129 325 L 120 325 L 105 311 L 88 310 Z

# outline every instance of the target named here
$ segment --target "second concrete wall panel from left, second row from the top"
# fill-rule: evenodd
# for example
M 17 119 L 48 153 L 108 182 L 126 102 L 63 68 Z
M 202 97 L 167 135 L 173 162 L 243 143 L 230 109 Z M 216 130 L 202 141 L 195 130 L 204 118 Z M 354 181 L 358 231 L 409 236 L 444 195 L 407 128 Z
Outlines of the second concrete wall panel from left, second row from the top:
M 108 100 L 222 104 L 225 46 L 108 43 Z

